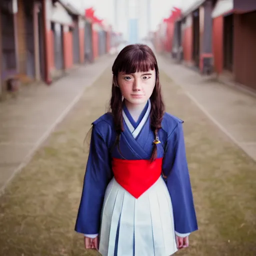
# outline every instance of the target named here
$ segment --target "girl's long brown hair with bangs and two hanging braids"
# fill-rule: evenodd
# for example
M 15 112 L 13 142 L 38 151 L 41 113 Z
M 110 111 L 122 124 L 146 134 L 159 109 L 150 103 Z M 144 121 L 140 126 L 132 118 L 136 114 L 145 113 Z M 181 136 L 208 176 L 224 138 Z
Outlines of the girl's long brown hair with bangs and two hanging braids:
M 121 90 L 117 83 L 118 72 L 125 72 L 131 74 L 135 72 L 146 72 L 148 70 L 155 70 L 156 80 L 153 88 L 152 95 L 150 96 L 151 110 L 150 110 L 150 125 L 154 132 L 155 140 L 158 139 L 158 130 L 161 128 L 161 121 L 164 113 L 164 104 L 161 98 L 161 86 L 159 82 L 159 70 L 157 61 L 153 51 L 144 44 L 131 44 L 124 47 L 112 66 L 112 95 L 110 99 L 109 111 L 113 114 L 114 126 L 116 130 L 116 140 L 119 148 L 119 140 L 121 132 L 123 132 L 123 101 Z M 156 143 L 153 144 L 153 151 L 151 155 L 151 161 L 157 157 Z

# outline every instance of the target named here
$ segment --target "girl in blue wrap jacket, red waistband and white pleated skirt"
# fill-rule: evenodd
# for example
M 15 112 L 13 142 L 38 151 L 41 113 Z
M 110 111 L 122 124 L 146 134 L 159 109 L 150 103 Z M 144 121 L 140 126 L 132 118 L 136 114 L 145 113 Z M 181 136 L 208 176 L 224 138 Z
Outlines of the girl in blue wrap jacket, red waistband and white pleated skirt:
M 168 256 L 197 229 L 183 121 L 164 112 L 148 46 L 123 48 L 112 73 L 110 111 L 92 123 L 75 230 L 103 256 Z

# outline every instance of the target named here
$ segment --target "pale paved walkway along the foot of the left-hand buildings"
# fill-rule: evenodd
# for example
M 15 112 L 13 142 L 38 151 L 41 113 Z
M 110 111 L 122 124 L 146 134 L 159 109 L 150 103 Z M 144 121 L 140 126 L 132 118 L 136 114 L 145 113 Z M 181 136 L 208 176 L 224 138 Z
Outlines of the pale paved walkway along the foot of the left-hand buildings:
M 51 86 L 28 85 L 17 98 L 0 102 L 0 191 L 112 61 L 102 56 Z

